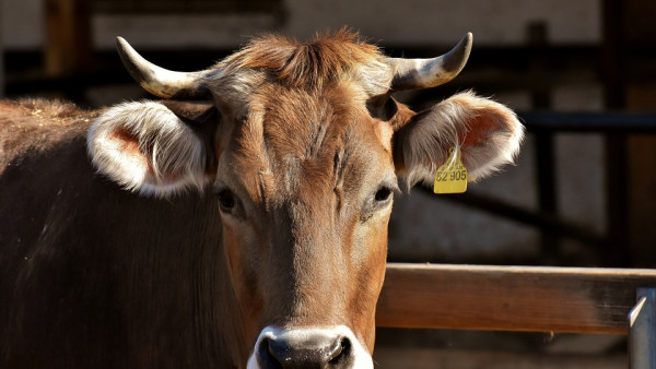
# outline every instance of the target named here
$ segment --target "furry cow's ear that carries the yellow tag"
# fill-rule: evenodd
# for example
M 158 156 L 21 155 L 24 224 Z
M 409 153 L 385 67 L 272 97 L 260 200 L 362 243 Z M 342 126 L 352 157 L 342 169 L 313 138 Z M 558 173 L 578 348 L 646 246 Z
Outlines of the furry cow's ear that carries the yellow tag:
M 419 112 L 394 135 L 397 174 L 408 187 L 432 183 L 435 170 L 459 147 L 469 179 L 478 179 L 512 163 L 524 127 L 504 105 L 460 93 Z

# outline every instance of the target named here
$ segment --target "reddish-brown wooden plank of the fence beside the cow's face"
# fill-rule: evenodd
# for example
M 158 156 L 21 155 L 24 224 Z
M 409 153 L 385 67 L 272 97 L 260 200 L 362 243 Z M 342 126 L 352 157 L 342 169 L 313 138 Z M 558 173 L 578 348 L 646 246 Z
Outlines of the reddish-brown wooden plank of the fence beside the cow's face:
M 637 287 L 656 270 L 389 263 L 376 324 L 626 334 Z

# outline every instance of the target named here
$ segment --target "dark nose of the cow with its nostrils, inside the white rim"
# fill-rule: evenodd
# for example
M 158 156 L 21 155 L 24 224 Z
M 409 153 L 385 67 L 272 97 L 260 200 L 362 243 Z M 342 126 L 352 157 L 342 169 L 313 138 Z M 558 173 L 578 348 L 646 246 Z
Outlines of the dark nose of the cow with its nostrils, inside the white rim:
M 344 336 L 317 333 L 303 340 L 268 338 L 262 344 L 262 350 L 267 347 L 262 354 L 269 355 L 265 361 L 273 368 L 338 368 L 350 361 L 351 342 Z

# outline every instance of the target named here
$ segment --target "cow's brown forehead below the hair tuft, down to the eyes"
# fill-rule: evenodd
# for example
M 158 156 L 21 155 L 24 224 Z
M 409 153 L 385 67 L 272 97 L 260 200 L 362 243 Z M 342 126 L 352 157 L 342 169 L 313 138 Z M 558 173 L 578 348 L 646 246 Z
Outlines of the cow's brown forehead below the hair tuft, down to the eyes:
M 393 167 L 389 136 L 378 132 L 385 123 L 370 116 L 359 92 L 261 88 L 267 93 L 250 97 L 224 153 L 251 198 L 325 197 L 341 181 L 366 182 Z

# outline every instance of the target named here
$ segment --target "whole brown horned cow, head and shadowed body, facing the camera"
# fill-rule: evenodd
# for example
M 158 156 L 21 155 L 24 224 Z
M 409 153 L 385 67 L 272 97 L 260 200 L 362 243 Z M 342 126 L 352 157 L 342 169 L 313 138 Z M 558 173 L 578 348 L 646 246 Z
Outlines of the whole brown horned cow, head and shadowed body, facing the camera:
M 454 150 L 478 179 L 520 146 L 472 92 L 393 97 L 454 79 L 471 44 L 265 35 L 177 72 L 119 37 L 160 99 L 0 103 L 0 367 L 373 368 L 395 193 Z

